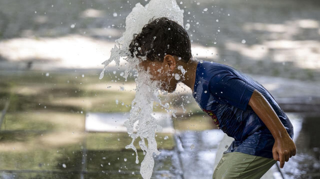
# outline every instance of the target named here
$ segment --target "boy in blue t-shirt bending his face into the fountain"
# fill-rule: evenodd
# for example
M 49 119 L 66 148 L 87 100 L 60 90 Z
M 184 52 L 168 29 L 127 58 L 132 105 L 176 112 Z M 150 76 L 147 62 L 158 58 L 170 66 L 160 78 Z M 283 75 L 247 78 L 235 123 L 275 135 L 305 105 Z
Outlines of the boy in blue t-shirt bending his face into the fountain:
M 295 155 L 293 127 L 269 92 L 227 65 L 193 60 L 188 34 L 178 23 L 150 20 L 129 47 L 132 56 L 146 56 L 139 65 L 161 89 L 173 92 L 184 83 L 214 124 L 234 138 L 213 179 L 259 179 L 276 161 L 283 168 Z

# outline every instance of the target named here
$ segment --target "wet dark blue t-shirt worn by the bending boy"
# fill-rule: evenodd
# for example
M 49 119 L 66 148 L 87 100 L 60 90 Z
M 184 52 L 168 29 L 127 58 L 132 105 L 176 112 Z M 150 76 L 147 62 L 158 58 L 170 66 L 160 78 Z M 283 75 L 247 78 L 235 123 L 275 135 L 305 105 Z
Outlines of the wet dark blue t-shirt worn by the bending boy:
M 274 139 L 248 106 L 254 89 L 269 102 L 293 138 L 292 124 L 271 94 L 258 82 L 232 67 L 208 61 L 198 62 L 192 95 L 214 124 L 234 138 L 224 153 L 241 152 L 272 159 Z

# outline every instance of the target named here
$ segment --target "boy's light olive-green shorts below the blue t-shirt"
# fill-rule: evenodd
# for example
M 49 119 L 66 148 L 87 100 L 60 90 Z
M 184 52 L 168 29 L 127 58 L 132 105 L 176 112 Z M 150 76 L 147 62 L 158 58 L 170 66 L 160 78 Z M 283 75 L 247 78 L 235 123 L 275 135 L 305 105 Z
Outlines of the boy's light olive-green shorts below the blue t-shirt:
M 274 164 L 273 159 L 240 152 L 223 154 L 212 179 L 260 179 Z

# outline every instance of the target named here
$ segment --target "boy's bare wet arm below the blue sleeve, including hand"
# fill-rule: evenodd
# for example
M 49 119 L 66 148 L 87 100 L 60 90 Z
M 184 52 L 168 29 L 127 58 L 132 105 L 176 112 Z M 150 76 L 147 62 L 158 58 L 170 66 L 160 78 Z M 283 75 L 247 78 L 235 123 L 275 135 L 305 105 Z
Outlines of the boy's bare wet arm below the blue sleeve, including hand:
M 255 114 L 271 132 L 275 141 L 272 149 L 273 159 L 279 161 L 280 168 L 283 168 L 284 161 L 289 161 L 289 158 L 294 156 L 296 152 L 292 139 L 286 132 L 273 108 L 260 92 L 256 90 L 253 91 L 248 105 L 251 106 Z

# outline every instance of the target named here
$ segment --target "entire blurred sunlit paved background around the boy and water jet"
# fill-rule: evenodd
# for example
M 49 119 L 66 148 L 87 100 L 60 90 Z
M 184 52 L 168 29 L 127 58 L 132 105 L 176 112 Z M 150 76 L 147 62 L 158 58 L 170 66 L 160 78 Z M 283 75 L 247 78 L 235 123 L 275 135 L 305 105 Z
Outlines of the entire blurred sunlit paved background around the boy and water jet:
M 134 79 L 124 83 L 123 62 L 99 80 L 137 2 L 148 0 L 0 0 L 1 179 L 141 178 L 121 125 Z M 193 58 L 253 77 L 294 125 L 297 155 L 281 170 L 272 167 L 269 178 L 319 179 L 320 1 L 177 3 Z M 161 96 L 177 115 L 156 136 L 154 179 L 212 176 L 223 134 L 190 92 L 180 85 Z

